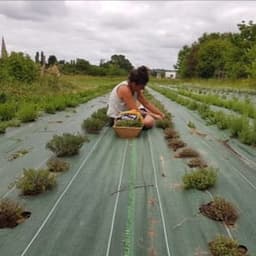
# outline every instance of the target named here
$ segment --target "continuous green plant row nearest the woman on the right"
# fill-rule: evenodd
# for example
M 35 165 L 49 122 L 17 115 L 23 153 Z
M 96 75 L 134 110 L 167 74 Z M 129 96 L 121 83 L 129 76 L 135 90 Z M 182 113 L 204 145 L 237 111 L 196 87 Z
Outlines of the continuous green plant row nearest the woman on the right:
M 209 125 L 217 125 L 219 129 L 223 130 L 228 129 L 232 137 L 238 138 L 244 144 L 256 145 L 256 121 L 251 124 L 250 119 L 246 116 L 236 116 L 225 114 L 223 111 L 213 111 L 209 105 L 184 98 L 166 88 L 154 87 L 154 89 L 178 104 L 190 110 L 196 110 Z

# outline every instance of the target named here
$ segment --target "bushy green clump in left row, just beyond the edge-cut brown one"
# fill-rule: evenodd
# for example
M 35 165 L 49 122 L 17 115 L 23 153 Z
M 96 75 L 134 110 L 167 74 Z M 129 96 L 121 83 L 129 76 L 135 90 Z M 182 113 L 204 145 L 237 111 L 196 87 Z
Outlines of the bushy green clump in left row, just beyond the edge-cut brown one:
M 37 195 L 56 186 L 56 177 L 44 169 L 24 169 L 23 175 L 16 181 L 16 186 L 23 195 Z

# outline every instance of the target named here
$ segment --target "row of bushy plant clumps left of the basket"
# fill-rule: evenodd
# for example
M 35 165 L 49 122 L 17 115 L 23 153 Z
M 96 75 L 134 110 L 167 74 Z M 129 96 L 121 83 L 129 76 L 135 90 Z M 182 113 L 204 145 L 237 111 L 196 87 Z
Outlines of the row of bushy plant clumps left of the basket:
M 106 108 L 101 108 L 95 111 L 90 118 L 84 120 L 81 126 L 87 133 L 99 133 L 107 120 Z M 22 176 L 12 185 L 20 189 L 22 195 L 38 195 L 53 189 L 57 185 L 55 173 L 69 169 L 69 163 L 60 157 L 77 155 L 84 142 L 88 142 L 87 136 L 79 133 L 54 135 L 46 144 L 46 148 L 54 153 L 54 156 L 47 161 L 47 167 L 38 170 L 24 169 Z M 0 228 L 13 228 L 28 218 L 30 214 L 18 202 L 3 199 L 0 201 Z

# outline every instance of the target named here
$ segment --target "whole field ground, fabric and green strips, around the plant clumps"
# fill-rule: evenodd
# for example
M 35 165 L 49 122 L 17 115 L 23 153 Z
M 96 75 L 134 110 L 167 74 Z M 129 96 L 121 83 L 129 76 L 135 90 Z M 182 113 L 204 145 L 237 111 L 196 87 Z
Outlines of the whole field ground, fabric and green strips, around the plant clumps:
M 16 227 L 0 229 L 1 255 L 213 255 L 209 242 L 217 235 L 246 246 L 250 255 L 256 253 L 254 89 L 152 80 L 147 92 L 171 113 L 179 139 L 216 171 L 216 184 L 185 189 L 183 177 L 196 170 L 189 167 L 195 157 L 182 157 L 184 146 L 170 148 L 166 130 L 155 127 L 128 140 L 108 126 L 99 134 L 81 128 L 83 120 L 106 107 L 108 92 L 124 78 L 63 79 L 58 86 L 47 82 L 30 90 L 14 87 L 16 94 L 5 86 L 8 101 L 0 106 L 19 98 L 18 106 L 33 104 L 38 115 L 20 127 L 5 125 L 0 136 L 1 198 L 31 212 Z M 58 97 L 76 104 L 47 112 L 46 103 Z M 2 123 L 18 120 L 17 112 Z M 47 142 L 63 133 L 80 133 L 89 141 L 78 155 L 61 158 L 70 168 L 56 174 L 55 188 L 21 195 L 15 180 L 24 168 L 45 168 L 53 156 Z M 219 221 L 202 214 L 202 205 L 216 197 L 235 207 L 232 223 L 230 211 Z

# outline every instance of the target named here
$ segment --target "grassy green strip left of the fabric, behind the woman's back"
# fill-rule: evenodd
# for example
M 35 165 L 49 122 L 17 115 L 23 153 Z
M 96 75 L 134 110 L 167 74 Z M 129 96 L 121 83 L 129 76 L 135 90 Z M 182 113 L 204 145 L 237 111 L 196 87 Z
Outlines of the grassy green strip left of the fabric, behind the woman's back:
M 32 84 L 0 83 L 0 133 L 13 119 L 33 121 L 41 111 L 55 113 L 104 95 L 124 77 L 45 76 Z

